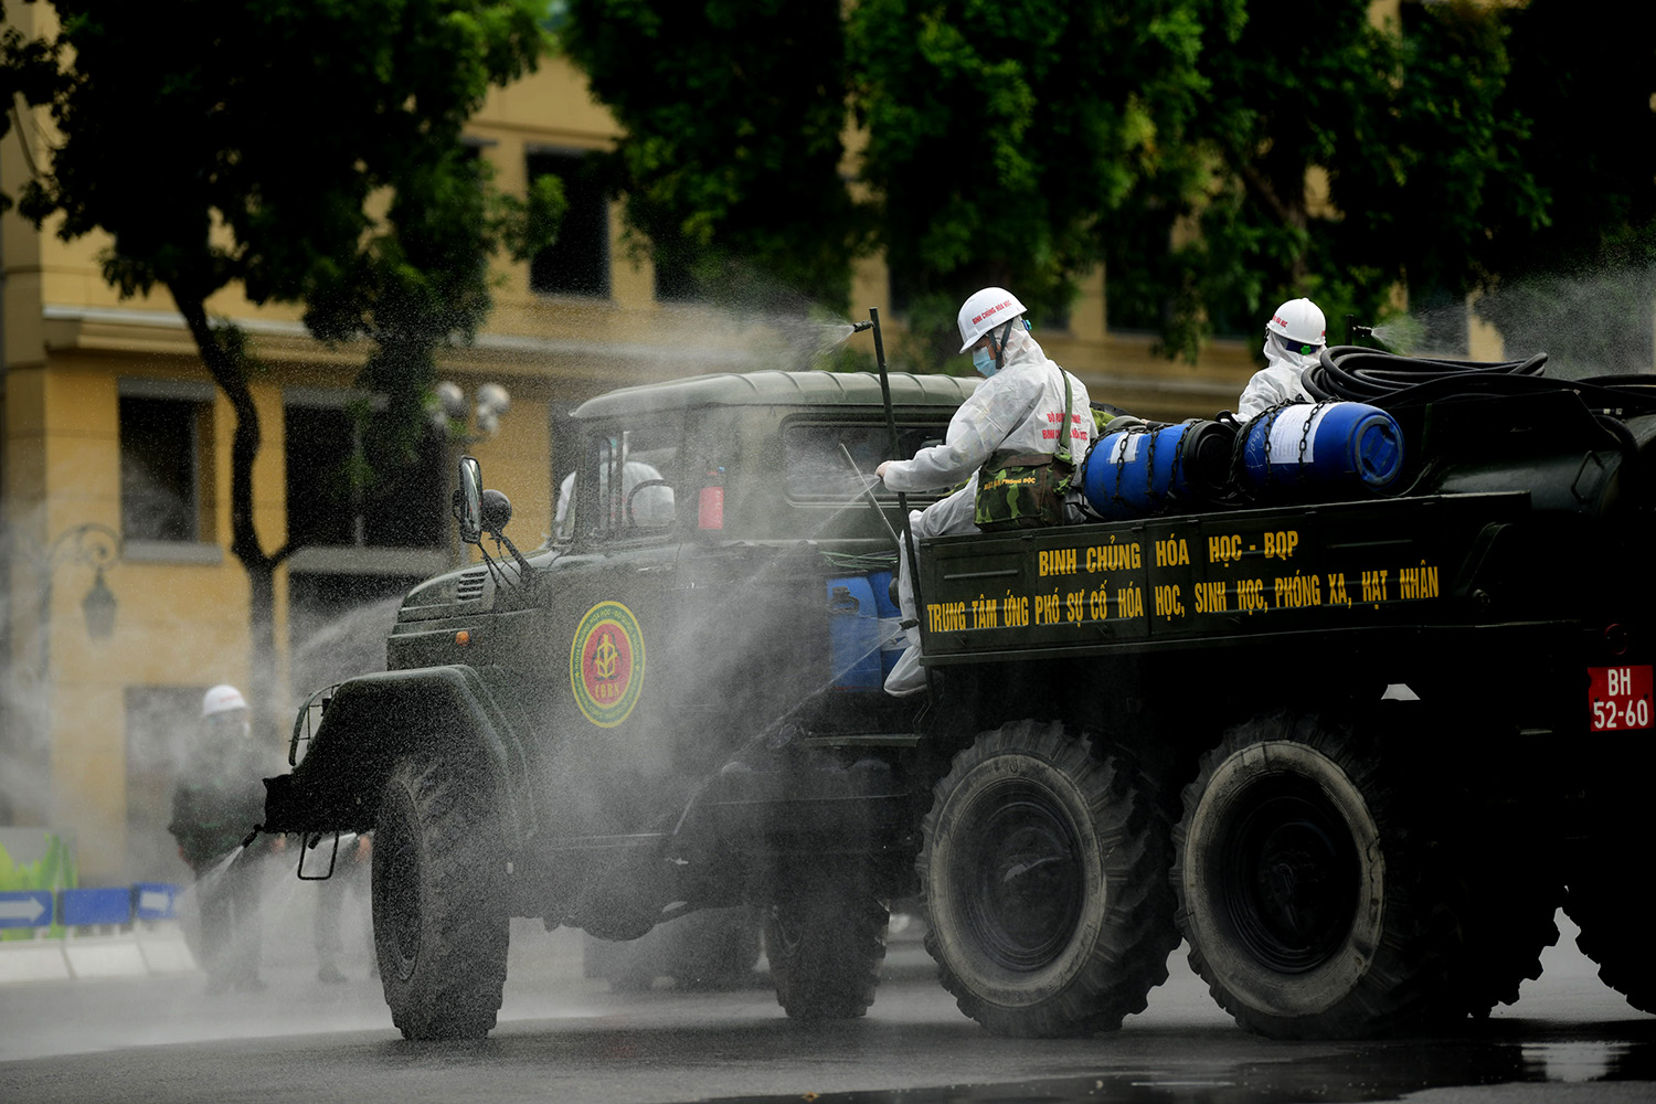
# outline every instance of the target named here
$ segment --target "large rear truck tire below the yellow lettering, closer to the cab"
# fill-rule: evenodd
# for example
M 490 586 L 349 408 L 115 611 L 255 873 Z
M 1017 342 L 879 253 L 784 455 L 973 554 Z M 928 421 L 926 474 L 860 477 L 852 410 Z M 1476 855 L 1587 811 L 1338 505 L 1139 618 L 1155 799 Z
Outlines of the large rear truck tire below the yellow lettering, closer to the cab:
M 1169 861 L 1167 821 L 1136 771 L 1060 722 L 985 732 L 926 816 L 926 950 L 995 1034 L 1114 1030 L 1167 980 Z

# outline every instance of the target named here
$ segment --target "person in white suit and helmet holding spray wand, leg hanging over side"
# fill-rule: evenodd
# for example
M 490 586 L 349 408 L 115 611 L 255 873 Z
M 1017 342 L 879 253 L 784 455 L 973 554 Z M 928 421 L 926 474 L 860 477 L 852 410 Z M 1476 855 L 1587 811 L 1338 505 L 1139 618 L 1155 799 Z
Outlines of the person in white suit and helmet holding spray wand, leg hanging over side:
M 1005 288 L 984 288 L 969 298 L 957 316 L 960 353 L 987 377 L 949 420 L 944 444 L 921 449 L 912 460 L 886 460 L 878 475 L 891 490 L 941 490 L 965 482 L 957 492 L 924 511 L 909 513 L 916 540 L 949 533 L 975 533 L 979 468 L 999 450 L 1058 452 L 1068 445 L 1080 463 L 1093 435 L 1091 399 L 1086 386 L 1050 361 L 1028 333 L 1023 305 Z M 1065 410 L 1065 377 L 1070 406 Z M 1066 439 L 1066 440 L 1065 440 Z M 1080 497 L 1068 506 L 1068 520 L 1080 521 Z M 907 548 L 898 556 L 898 604 L 909 647 L 886 677 L 886 692 L 917 694 L 926 689 L 921 669 L 921 636 L 909 578 Z

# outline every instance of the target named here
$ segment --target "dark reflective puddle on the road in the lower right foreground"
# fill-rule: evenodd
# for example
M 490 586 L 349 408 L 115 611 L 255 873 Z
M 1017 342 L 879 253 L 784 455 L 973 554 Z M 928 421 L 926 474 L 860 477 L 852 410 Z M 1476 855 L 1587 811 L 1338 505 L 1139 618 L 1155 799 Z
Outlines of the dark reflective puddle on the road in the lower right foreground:
M 1028 1104 L 1032 1101 L 1111 1101 L 1118 1104 L 1283 1104 L 1321 1101 L 1394 1101 L 1424 1089 L 1519 1082 L 1591 1082 L 1656 1079 L 1656 1025 L 1616 1025 L 1626 1038 L 1514 1041 L 1409 1039 L 1398 1043 L 1317 1044 L 1317 1056 L 1234 1063 L 1227 1068 L 1167 1069 L 1164 1074 L 1075 1073 L 1002 1084 L 952 1084 L 919 1089 L 797 1092 L 719 1097 L 707 1104 Z M 1297 1044 L 1268 1044 L 1292 1048 Z

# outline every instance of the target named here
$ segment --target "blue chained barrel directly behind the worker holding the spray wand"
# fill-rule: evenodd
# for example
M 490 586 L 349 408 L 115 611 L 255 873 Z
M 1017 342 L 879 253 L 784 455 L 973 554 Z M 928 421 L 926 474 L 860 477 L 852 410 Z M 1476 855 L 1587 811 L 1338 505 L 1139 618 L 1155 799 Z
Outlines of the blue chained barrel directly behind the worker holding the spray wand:
M 1086 454 L 1081 492 L 1108 520 L 1158 513 L 1222 492 L 1234 445 L 1232 427 L 1201 419 L 1105 432 Z

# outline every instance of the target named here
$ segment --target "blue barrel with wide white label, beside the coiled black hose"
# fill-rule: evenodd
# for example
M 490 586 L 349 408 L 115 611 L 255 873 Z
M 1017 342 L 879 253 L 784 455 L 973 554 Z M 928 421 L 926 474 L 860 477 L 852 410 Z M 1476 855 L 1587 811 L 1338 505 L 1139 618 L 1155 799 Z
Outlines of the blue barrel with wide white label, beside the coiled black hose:
M 1257 488 L 1381 490 L 1403 470 L 1403 430 L 1366 402 L 1300 402 L 1255 415 L 1242 432 L 1242 470 Z

